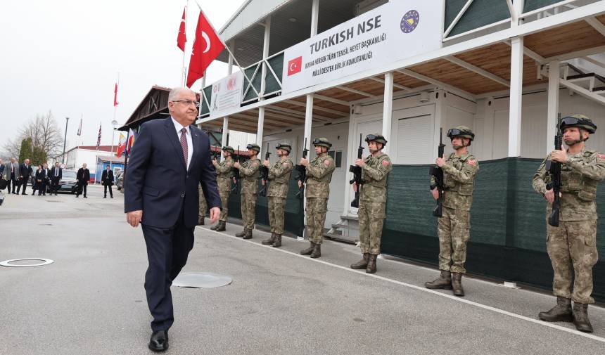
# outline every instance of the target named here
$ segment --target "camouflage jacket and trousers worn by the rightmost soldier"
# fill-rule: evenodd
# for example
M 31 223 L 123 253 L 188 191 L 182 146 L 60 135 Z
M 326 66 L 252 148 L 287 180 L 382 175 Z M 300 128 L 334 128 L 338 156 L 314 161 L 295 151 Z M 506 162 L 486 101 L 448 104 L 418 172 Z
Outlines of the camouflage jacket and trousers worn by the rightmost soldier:
M 533 176 L 533 188 L 544 195 L 550 182 L 546 161 Z M 592 266 L 597 264 L 597 183 L 605 178 L 605 155 L 592 150 L 568 154 L 561 164 L 559 226 L 547 222 L 547 250 L 552 262 L 553 294 L 580 304 L 594 303 Z M 552 204 L 547 203 L 547 218 Z M 573 283 L 573 288 L 572 288 Z

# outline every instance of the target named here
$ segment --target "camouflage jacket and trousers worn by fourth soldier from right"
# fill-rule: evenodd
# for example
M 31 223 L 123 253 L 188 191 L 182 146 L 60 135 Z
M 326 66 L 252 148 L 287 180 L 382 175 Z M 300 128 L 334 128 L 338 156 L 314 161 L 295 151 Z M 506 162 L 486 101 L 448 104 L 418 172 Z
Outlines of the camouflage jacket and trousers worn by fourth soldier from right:
M 318 155 L 307 165 L 307 239 L 311 243 L 321 244 L 324 240 L 324 224 L 328 211 L 330 181 L 336 169 L 334 160 L 328 153 Z

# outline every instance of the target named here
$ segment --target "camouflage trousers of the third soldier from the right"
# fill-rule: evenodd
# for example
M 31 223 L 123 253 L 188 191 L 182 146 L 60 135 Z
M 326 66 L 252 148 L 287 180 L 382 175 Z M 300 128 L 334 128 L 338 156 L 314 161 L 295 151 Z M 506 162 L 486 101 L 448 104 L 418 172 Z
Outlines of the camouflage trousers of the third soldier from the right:
M 386 217 L 385 204 L 382 202 L 360 201 L 357 216 L 359 217 L 359 240 L 362 252 L 380 254 L 382 226 Z

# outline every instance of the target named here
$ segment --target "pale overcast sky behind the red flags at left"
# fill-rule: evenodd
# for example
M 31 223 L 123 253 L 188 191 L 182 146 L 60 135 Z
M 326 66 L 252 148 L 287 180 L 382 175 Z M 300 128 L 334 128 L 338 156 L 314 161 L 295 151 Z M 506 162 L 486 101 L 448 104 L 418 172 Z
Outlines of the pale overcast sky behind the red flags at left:
M 198 0 L 219 30 L 244 0 Z M 186 0 L 3 1 L 0 11 L 0 152 L 19 127 L 49 110 L 75 146 L 110 145 L 113 87 L 120 72 L 116 120 L 123 124 L 151 86 L 180 86 L 183 52 L 177 33 Z M 186 65 L 198 18 L 189 1 Z M 207 84 L 227 75 L 216 62 Z M 201 79 L 193 89 L 199 91 Z M 115 142 L 117 143 L 117 136 Z

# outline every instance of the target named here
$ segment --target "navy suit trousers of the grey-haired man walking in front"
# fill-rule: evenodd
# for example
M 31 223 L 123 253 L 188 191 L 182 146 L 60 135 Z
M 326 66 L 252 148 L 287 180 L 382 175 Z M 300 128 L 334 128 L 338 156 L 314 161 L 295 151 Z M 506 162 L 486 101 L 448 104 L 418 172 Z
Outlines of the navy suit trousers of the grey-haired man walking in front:
M 168 330 L 174 322 L 170 286 L 193 249 L 193 228 L 184 225 L 183 207 L 177 224 L 172 228 L 141 226 L 149 262 L 145 273 L 145 292 L 153 316 L 151 330 Z

